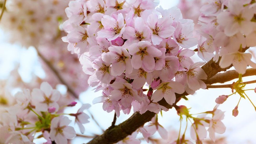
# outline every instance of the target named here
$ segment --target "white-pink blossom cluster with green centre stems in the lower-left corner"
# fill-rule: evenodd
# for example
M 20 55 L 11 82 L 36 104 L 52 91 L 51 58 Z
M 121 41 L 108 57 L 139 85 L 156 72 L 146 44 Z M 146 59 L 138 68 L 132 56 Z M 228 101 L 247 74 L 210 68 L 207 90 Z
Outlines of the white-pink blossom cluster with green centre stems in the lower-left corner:
M 67 143 L 67 139 L 74 138 L 76 132 L 73 127 L 68 126 L 71 120 L 63 116 L 63 108 L 75 106 L 77 102 L 63 104 L 63 99 L 65 97 L 47 82 L 43 82 L 40 89 L 34 88 L 31 92 L 24 89 L 23 92 L 16 93 L 16 104 L 1 112 L 0 142 L 33 143 L 35 138 L 43 137 L 46 144 L 52 141 Z M 66 114 L 75 117 L 75 123 L 82 133 L 82 124 L 89 123 L 89 116 L 83 111 L 89 107 L 89 104 L 83 104 L 76 113 Z

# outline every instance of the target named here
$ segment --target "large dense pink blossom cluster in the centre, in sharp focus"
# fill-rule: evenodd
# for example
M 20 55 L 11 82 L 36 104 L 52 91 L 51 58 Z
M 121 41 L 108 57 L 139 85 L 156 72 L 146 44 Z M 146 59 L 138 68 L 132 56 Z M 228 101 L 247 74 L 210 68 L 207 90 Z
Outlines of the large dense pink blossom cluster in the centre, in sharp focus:
M 103 90 L 93 103 L 103 103 L 107 112 L 119 116 L 133 106 L 141 114 L 158 113 L 167 110 L 157 103 L 162 98 L 173 104 L 175 93 L 206 88 L 204 62 L 190 58 L 195 52 L 189 48 L 198 43 L 193 20 L 183 19 L 177 7 L 157 5 L 152 0 L 76 0 L 65 9 L 68 35 L 62 39 L 78 54 L 89 85 Z

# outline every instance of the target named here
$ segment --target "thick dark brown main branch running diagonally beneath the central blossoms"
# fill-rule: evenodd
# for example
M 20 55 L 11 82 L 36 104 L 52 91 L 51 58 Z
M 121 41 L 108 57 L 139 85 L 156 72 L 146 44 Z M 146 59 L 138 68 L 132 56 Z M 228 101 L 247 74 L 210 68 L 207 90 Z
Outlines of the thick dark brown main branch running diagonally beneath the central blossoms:
M 219 62 L 215 63 L 213 60 L 210 60 L 202 66 L 202 69 L 208 76 L 207 80 L 216 75 L 218 72 L 226 71 L 229 68 L 231 68 L 231 65 L 227 68 L 222 69 L 219 67 Z M 175 104 L 185 95 L 188 94 L 186 92 L 183 94 L 176 94 Z M 162 106 L 165 106 L 166 108 L 172 108 L 172 105 L 166 103 L 164 99 L 162 99 L 158 103 Z M 150 121 L 154 116 L 155 113 L 150 111 L 147 111 L 142 115 L 136 112 L 123 123 L 107 129 L 102 135 L 95 137 L 88 143 L 116 143 L 124 139 L 128 135 L 131 135 L 136 129 L 143 126 L 146 122 Z

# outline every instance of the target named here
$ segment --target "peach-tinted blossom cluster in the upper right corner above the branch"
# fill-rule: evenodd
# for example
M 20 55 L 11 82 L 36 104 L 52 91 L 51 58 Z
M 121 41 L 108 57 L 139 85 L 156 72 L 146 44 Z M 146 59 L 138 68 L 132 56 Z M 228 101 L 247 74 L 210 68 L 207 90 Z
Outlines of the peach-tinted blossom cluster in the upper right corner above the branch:
M 221 56 L 221 68 L 233 64 L 240 74 L 246 72 L 248 65 L 256 68 L 252 55 L 244 52 L 256 46 L 255 7 L 251 0 L 208 0 L 200 9 L 198 56 L 205 61 L 214 57 L 216 62 Z

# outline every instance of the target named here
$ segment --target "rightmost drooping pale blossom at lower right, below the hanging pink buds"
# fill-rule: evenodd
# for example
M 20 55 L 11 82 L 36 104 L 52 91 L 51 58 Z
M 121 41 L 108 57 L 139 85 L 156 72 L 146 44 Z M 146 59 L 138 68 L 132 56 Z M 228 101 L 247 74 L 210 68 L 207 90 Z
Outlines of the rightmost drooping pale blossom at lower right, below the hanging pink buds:
M 223 134 L 226 131 L 226 127 L 221 122 L 224 118 L 224 112 L 216 109 L 212 119 L 210 120 L 210 126 L 208 128 L 210 138 L 215 141 L 215 132 L 218 134 Z

